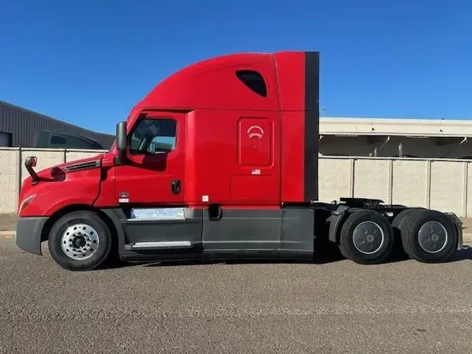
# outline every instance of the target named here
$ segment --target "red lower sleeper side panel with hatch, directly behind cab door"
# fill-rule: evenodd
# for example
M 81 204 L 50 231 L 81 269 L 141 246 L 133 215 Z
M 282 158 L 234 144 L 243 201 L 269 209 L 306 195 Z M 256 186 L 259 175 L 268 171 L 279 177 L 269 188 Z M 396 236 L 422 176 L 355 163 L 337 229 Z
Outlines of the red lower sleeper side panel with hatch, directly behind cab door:
M 190 115 L 189 127 L 186 129 L 185 183 L 189 190 L 185 200 L 192 205 L 205 205 L 203 198 L 208 196 L 208 202 L 225 205 L 248 204 L 280 205 L 280 118 L 277 112 L 271 111 L 215 111 L 197 110 Z M 243 120 L 243 124 L 239 124 Z M 239 127 L 245 128 L 249 122 L 262 122 L 266 134 L 260 141 L 257 150 L 242 146 L 243 154 L 238 154 Z M 267 127 L 273 127 L 267 129 Z M 250 144 L 251 139 L 247 130 L 242 129 L 241 141 Z M 269 130 L 270 132 L 267 132 Z M 191 137 L 190 137 L 191 136 Z M 270 138 L 270 139 L 269 139 Z M 265 149 L 265 150 L 264 150 Z M 269 155 L 269 157 L 266 157 Z M 261 159 L 262 156 L 262 159 Z M 242 160 L 248 157 L 248 160 Z M 247 176 L 245 190 L 241 190 L 241 178 Z M 260 192 L 260 176 L 267 176 L 273 186 L 272 192 Z M 188 181 L 188 182 L 187 182 Z M 248 199 L 252 194 L 252 199 Z

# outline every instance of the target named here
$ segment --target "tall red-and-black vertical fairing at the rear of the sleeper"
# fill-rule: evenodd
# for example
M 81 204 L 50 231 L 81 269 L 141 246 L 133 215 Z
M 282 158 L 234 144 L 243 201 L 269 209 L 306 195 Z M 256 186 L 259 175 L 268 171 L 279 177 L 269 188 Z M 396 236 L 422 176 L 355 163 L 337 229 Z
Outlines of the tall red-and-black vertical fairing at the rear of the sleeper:
M 282 201 L 318 199 L 319 53 L 274 55 L 281 114 Z

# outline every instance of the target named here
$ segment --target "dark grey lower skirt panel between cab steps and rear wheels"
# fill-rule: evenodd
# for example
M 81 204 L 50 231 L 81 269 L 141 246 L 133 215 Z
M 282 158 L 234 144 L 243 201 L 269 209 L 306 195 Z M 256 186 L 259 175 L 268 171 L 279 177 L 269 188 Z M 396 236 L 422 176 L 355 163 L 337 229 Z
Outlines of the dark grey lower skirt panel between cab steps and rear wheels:
M 314 223 L 310 208 L 224 208 L 217 220 L 204 210 L 203 253 L 206 259 L 311 259 Z

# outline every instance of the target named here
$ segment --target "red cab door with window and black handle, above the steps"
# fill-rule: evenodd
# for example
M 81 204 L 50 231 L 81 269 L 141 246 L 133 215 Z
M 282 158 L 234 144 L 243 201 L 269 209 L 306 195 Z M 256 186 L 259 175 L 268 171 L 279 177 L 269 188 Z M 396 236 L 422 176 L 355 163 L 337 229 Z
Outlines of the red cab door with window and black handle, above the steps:
M 185 115 L 147 113 L 128 134 L 127 162 L 115 168 L 115 198 L 129 206 L 184 202 Z

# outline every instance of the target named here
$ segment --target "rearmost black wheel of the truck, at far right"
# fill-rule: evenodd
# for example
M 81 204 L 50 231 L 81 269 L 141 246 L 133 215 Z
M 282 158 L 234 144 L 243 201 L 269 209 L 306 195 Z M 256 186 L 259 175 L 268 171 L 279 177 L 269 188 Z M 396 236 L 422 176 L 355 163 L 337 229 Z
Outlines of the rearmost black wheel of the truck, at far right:
M 455 252 L 458 234 L 447 215 L 423 209 L 410 213 L 399 228 L 406 254 L 424 263 L 447 261 Z

